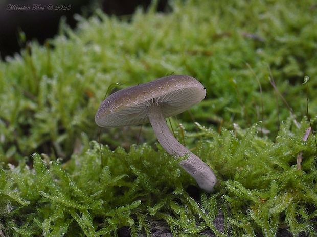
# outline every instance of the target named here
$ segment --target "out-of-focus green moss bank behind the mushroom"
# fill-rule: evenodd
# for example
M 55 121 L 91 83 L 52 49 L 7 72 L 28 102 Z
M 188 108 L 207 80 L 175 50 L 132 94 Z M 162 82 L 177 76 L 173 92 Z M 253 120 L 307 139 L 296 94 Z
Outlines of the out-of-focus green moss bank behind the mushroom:
M 61 18 L 59 33 L 43 45 L 18 31 L 20 54 L 0 63 L 1 160 L 35 151 L 70 157 L 80 133 L 98 139 L 94 115 L 110 84 L 120 89 L 170 73 L 207 88 L 192 116 L 178 116 L 189 130 L 193 121 L 215 129 L 263 121 L 274 140 L 282 120 L 306 116 L 304 76 L 315 116 L 313 1 L 172 1 L 157 13 L 158 6 L 119 18 L 96 8 L 87 19 L 75 15 L 75 30 Z M 140 127 L 104 131 L 103 143 L 128 149 Z M 145 141 L 155 141 L 147 126 L 139 137 Z

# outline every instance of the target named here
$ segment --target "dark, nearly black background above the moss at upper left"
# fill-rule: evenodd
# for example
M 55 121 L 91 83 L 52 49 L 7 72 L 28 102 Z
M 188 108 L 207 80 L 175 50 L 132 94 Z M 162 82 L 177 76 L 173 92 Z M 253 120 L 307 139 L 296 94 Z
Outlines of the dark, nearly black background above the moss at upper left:
M 76 27 L 74 14 L 89 15 L 99 6 L 109 15 L 130 15 L 138 6 L 146 9 L 151 0 L 26 0 L 0 2 L 0 55 L 2 59 L 19 52 L 18 32 L 24 32 L 26 40 L 36 39 L 40 44 L 53 38 L 58 32 L 62 16 L 70 27 Z M 164 11 L 167 0 L 161 0 L 158 11 Z

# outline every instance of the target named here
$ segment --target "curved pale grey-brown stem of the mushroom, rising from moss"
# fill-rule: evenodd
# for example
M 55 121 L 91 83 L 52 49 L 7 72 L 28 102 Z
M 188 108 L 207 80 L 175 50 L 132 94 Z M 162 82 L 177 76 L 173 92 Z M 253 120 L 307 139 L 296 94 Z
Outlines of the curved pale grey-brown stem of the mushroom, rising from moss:
M 215 174 L 205 162 L 180 144 L 173 136 L 165 121 L 160 103 L 153 102 L 147 107 L 147 111 L 150 123 L 161 146 L 170 155 L 176 155 L 176 157 L 190 153 L 190 157 L 179 162 L 178 165 L 196 180 L 200 188 L 212 192 L 217 181 Z

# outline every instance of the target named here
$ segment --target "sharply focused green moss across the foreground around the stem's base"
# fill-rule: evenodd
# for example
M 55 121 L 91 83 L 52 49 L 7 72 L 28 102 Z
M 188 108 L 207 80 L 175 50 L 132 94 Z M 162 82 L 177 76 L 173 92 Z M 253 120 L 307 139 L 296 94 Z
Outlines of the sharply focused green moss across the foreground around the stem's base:
M 194 184 L 178 160 L 147 144 L 111 151 L 89 142 L 61 164 L 33 155 L 33 168 L 21 162 L 0 172 L 2 229 L 8 236 L 116 236 L 128 226 L 131 236 L 151 235 L 151 221 L 164 220 L 175 236 L 210 229 L 217 236 L 275 236 L 285 226 L 293 234 L 314 235 L 317 205 L 317 148 L 302 141 L 301 128 L 283 123 L 277 142 L 246 131 L 199 127 L 197 154 L 221 178 L 215 194 L 189 194 Z M 192 134 L 189 136 L 197 136 Z M 303 152 L 302 168 L 296 157 Z M 213 221 L 221 211 L 224 232 Z M 199 223 L 199 224 L 197 224 Z

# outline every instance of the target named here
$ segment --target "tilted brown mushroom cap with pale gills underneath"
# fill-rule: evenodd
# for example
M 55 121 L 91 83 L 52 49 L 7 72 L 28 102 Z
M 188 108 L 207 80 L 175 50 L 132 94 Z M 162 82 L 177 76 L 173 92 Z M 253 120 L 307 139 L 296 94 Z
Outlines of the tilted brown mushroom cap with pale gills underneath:
M 123 127 L 148 123 L 147 107 L 160 103 L 165 117 L 180 114 L 206 96 L 206 89 L 195 78 L 170 75 L 131 86 L 108 96 L 96 113 L 101 127 Z

